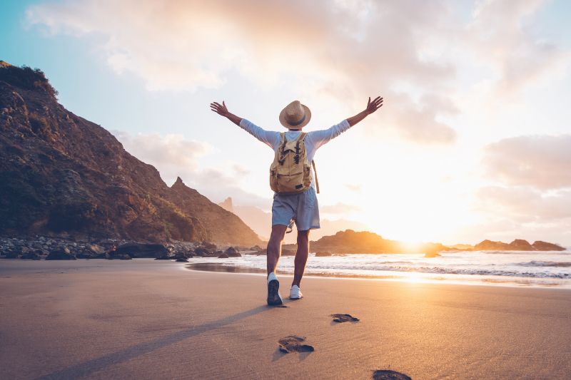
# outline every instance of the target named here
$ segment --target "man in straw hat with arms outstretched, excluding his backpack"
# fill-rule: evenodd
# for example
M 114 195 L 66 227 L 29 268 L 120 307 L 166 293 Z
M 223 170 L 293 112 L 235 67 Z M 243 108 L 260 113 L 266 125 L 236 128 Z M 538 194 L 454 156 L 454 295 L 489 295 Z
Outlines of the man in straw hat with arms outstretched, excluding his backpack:
M 251 133 L 262 143 L 266 143 L 276 152 L 282 143 L 281 134 L 279 132 L 263 130 L 254 125 L 250 121 L 240 118 L 228 111 L 226 103 L 211 103 L 211 110 L 222 115 L 243 130 Z M 303 137 L 305 143 L 305 153 L 308 162 L 313 161 L 315 151 L 320 146 L 328 143 L 333 138 L 348 130 L 353 125 L 363 120 L 367 115 L 377 111 L 383 106 L 383 98 L 378 96 L 373 101 L 368 100 L 367 108 L 357 115 L 343 120 L 333 127 L 325 130 L 313 130 Z M 311 111 L 299 101 L 293 101 L 283 108 L 280 113 L 280 123 L 288 128 L 285 133 L 285 140 L 297 140 L 300 137 L 302 128 L 309 123 Z M 267 268 L 268 268 L 268 305 L 282 304 L 282 298 L 279 293 L 280 283 L 276 277 L 276 267 L 281 255 L 281 245 L 283 237 L 288 226 L 295 222 L 298 229 L 298 250 L 295 253 L 295 270 L 293 282 L 291 283 L 290 299 L 300 299 L 303 297 L 300 290 L 301 277 L 305 270 L 305 263 L 308 260 L 309 253 L 309 231 L 319 228 L 319 208 L 317 196 L 315 195 L 315 181 L 311 176 L 310 188 L 297 194 L 280 194 L 273 195 L 272 205 L 272 232 L 268 242 L 267 250 Z

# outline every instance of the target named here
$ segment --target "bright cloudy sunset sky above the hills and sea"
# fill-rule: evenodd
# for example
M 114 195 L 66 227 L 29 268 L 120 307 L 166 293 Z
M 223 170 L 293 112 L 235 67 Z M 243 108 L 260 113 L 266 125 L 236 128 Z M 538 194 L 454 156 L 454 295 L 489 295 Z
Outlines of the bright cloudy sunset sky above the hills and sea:
M 41 68 L 171 185 L 271 210 L 273 152 L 211 101 L 304 130 L 324 220 L 407 242 L 571 246 L 571 2 L 2 1 L 0 59 Z M 269 227 L 268 227 L 269 228 Z

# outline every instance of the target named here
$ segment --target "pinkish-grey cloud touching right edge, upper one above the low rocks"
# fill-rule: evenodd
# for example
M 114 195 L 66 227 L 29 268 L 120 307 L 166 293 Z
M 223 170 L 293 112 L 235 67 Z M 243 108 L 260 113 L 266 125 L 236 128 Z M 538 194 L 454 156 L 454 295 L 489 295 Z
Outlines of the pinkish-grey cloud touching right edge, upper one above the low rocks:
M 571 187 L 571 135 L 505 138 L 485 147 L 487 173 L 507 185 Z

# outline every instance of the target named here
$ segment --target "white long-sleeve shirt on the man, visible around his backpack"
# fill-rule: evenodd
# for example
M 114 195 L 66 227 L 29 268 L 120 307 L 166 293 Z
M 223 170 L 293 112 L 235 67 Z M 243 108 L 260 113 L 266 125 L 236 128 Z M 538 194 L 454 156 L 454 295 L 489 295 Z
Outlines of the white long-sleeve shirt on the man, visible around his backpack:
M 278 150 L 280 145 L 280 133 L 275 130 L 265 130 L 258 125 L 252 123 L 249 120 L 242 119 L 240 121 L 240 128 L 246 130 L 246 132 L 253 135 L 255 138 L 260 140 L 262 143 L 265 143 L 270 148 L 273 149 L 275 152 Z M 336 138 L 341 133 L 345 132 L 351 128 L 351 125 L 347 120 L 343 120 L 342 122 L 333 125 L 328 129 L 323 130 L 312 130 L 305 135 L 305 153 L 308 156 L 308 162 L 310 163 L 313 161 L 313 157 L 315 156 L 315 152 L 320 148 L 322 145 L 328 143 L 333 138 Z M 288 130 L 285 132 L 285 140 L 291 141 L 295 140 L 299 137 L 301 131 L 300 130 Z M 315 180 L 313 180 L 313 173 L 311 175 L 311 186 L 315 188 Z

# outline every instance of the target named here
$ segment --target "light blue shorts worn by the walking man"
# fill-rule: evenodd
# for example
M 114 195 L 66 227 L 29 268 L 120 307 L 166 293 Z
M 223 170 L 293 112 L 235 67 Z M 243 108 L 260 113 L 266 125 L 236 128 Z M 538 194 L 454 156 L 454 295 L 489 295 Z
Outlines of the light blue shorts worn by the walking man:
M 295 222 L 298 231 L 319 228 L 319 206 L 314 188 L 299 194 L 274 194 L 272 225 L 290 225 Z

